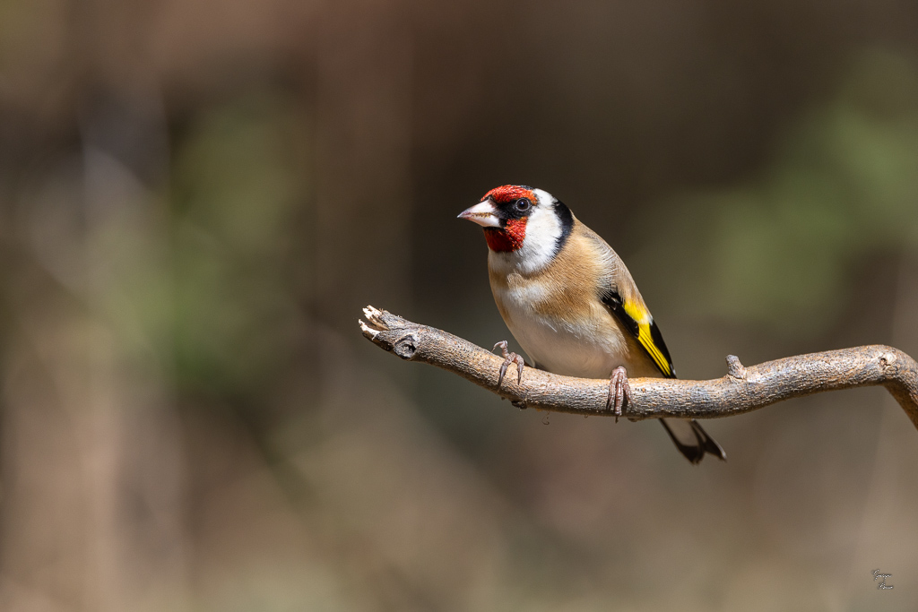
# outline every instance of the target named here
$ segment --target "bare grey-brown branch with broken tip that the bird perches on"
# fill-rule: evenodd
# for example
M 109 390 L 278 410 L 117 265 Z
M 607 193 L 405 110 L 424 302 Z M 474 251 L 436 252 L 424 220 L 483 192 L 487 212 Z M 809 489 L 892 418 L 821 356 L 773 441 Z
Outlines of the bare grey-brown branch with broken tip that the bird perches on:
M 373 306 L 364 308 L 360 327 L 377 346 L 410 362 L 424 362 L 459 374 L 514 406 L 580 415 L 609 416 L 608 380 L 573 378 L 527 366 L 522 382 L 506 376 L 498 387 L 503 360 L 441 329 L 419 325 Z M 814 352 L 744 367 L 727 357 L 727 374 L 710 381 L 630 378 L 632 420 L 659 417 L 732 417 L 791 397 L 882 384 L 918 428 L 918 363 L 892 347 L 871 345 Z

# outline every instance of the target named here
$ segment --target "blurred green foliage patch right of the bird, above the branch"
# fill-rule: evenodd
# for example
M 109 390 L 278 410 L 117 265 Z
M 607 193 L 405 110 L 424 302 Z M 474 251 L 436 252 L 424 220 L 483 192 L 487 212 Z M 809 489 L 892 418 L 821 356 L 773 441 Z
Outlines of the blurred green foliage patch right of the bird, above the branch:
M 745 184 L 678 197 L 644 257 L 686 312 L 815 335 L 850 300 L 861 258 L 918 247 L 918 72 L 860 55 L 838 95 L 806 112 Z M 653 253 L 653 255 L 651 255 Z M 661 257 L 672 258 L 664 265 Z

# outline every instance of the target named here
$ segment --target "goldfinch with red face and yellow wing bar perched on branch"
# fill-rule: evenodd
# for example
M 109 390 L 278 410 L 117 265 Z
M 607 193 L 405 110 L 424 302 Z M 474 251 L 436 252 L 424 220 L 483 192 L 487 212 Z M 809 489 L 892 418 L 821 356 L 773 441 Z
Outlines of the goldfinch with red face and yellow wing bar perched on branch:
M 459 218 L 484 228 L 487 272 L 500 316 L 537 369 L 608 378 L 607 409 L 632 403 L 628 376 L 676 378 L 654 317 L 621 257 L 570 208 L 542 189 L 508 184 Z M 522 357 L 495 344 L 522 380 Z M 659 419 L 689 462 L 726 453 L 695 419 Z

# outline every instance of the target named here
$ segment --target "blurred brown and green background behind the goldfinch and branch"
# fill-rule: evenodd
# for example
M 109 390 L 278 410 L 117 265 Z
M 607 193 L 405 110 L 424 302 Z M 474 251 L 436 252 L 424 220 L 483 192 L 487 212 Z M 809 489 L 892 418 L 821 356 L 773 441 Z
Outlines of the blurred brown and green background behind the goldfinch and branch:
M 507 183 L 619 251 L 683 377 L 918 354 L 918 5 L 0 3 L 0 609 L 918 608 L 881 389 L 692 467 L 360 336 L 510 339 L 454 218 Z

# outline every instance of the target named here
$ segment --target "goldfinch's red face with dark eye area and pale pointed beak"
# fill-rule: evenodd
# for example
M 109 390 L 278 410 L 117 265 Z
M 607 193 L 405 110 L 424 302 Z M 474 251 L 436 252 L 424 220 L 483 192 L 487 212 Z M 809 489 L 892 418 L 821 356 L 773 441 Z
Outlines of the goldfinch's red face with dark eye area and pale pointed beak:
M 529 187 L 504 185 L 487 192 L 481 202 L 465 209 L 459 218 L 485 228 L 490 250 L 520 250 L 526 239 L 526 222 L 537 202 L 538 198 Z

